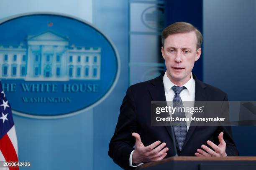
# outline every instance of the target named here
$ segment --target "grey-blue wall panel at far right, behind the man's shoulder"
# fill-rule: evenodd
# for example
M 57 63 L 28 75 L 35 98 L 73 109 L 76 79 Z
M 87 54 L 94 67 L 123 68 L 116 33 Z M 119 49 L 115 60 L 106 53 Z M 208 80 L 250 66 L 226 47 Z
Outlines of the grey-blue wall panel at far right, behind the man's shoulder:
M 228 100 L 256 100 L 255 0 L 204 0 L 204 80 Z M 256 155 L 256 126 L 232 127 L 241 155 Z

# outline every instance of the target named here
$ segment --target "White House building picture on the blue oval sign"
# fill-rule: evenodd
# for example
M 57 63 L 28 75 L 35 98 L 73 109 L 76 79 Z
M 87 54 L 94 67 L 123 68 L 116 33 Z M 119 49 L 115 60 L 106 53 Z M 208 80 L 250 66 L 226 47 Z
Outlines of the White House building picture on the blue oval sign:
M 25 81 L 100 79 L 100 47 L 75 47 L 69 38 L 46 31 L 27 45 L 0 45 L 0 77 Z

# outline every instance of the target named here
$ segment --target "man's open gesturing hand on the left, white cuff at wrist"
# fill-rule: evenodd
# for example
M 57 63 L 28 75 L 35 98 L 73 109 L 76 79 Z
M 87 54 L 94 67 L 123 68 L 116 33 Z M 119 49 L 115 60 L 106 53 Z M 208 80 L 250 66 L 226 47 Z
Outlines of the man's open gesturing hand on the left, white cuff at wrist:
M 162 143 L 158 140 L 151 145 L 144 146 L 141 142 L 141 137 L 138 133 L 132 133 L 132 136 L 136 138 L 135 150 L 132 156 L 132 163 L 144 163 L 152 162 L 156 160 L 162 160 L 167 155 L 168 148 L 164 148 L 166 143 Z M 164 148 L 164 149 L 163 149 Z

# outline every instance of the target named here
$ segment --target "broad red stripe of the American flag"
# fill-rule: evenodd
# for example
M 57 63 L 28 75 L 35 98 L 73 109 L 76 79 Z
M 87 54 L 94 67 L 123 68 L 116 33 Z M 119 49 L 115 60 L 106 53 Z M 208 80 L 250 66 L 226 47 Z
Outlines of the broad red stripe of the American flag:
M 6 161 L 16 161 L 18 162 L 18 156 L 13 147 L 13 143 L 10 141 L 10 138 L 7 134 L 0 139 L 0 150 L 2 151 Z M 18 170 L 19 168 L 10 168 L 10 170 Z

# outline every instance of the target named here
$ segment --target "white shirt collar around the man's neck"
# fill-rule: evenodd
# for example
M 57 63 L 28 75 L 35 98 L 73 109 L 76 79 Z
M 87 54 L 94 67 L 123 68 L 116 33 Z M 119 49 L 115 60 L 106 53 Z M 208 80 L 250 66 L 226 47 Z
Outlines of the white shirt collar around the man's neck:
M 167 77 L 167 71 L 164 73 L 164 77 L 163 77 L 163 82 L 164 82 L 164 90 L 167 92 L 167 94 L 170 92 L 170 90 L 172 90 L 172 86 L 174 86 L 175 84 Z M 190 79 L 182 86 L 186 87 L 189 94 L 191 94 L 195 83 L 195 80 L 193 79 L 193 75 L 191 72 L 191 77 Z M 177 85 L 176 85 L 177 86 Z

